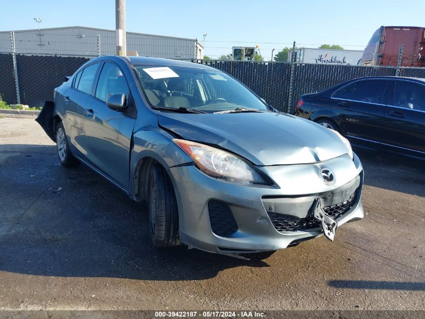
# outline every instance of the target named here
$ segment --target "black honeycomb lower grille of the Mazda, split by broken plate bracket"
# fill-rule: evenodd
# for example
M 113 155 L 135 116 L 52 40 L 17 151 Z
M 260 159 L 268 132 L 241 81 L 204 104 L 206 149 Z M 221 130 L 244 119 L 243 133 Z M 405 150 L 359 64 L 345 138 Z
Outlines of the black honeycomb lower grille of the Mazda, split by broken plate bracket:
M 323 211 L 333 219 L 339 217 L 350 211 L 356 203 L 357 190 L 350 196 L 350 198 L 343 202 L 331 206 L 322 207 Z M 320 221 L 314 218 L 314 212 L 310 211 L 309 215 L 304 218 L 299 218 L 292 215 L 278 214 L 267 212 L 277 231 L 298 231 L 311 228 L 320 227 Z

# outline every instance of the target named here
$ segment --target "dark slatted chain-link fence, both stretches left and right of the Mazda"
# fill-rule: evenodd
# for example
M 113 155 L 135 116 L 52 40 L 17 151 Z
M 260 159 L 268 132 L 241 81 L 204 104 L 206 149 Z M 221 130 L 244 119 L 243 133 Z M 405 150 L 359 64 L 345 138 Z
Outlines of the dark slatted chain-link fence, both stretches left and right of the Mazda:
M 9 104 L 20 100 L 41 106 L 53 89 L 90 57 L 0 54 L 0 95 Z M 362 67 L 309 63 L 192 60 L 222 70 L 245 84 L 278 110 L 294 111 L 301 94 L 314 93 L 359 77 L 425 78 L 425 68 Z M 398 71 L 398 72 L 397 72 Z M 16 81 L 18 80 L 18 86 Z M 18 94 L 19 92 L 19 94 Z M 19 99 L 18 99 L 19 97 Z

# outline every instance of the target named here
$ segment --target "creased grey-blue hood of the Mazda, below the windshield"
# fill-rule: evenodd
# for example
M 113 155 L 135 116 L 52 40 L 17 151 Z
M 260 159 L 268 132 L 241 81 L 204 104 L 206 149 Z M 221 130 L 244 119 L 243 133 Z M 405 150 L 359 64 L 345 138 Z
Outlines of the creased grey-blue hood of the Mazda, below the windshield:
M 325 161 L 348 153 L 333 132 L 285 113 L 160 113 L 158 123 L 181 138 L 217 145 L 254 165 Z

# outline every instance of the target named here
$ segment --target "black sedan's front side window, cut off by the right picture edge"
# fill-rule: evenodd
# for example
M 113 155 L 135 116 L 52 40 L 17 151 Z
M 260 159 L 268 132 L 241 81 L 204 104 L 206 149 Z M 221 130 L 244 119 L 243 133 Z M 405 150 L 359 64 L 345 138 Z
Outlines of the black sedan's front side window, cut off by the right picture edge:
M 394 106 L 425 111 L 425 86 L 397 81 L 393 100 Z

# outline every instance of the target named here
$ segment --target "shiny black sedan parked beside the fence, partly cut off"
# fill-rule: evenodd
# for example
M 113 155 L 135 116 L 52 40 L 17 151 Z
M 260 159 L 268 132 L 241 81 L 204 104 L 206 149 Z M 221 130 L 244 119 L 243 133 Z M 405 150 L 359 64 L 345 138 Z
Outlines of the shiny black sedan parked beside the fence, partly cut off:
M 356 146 L 425 159 L 425 79 L 358 78 L 301 95 L 295 114 Z

